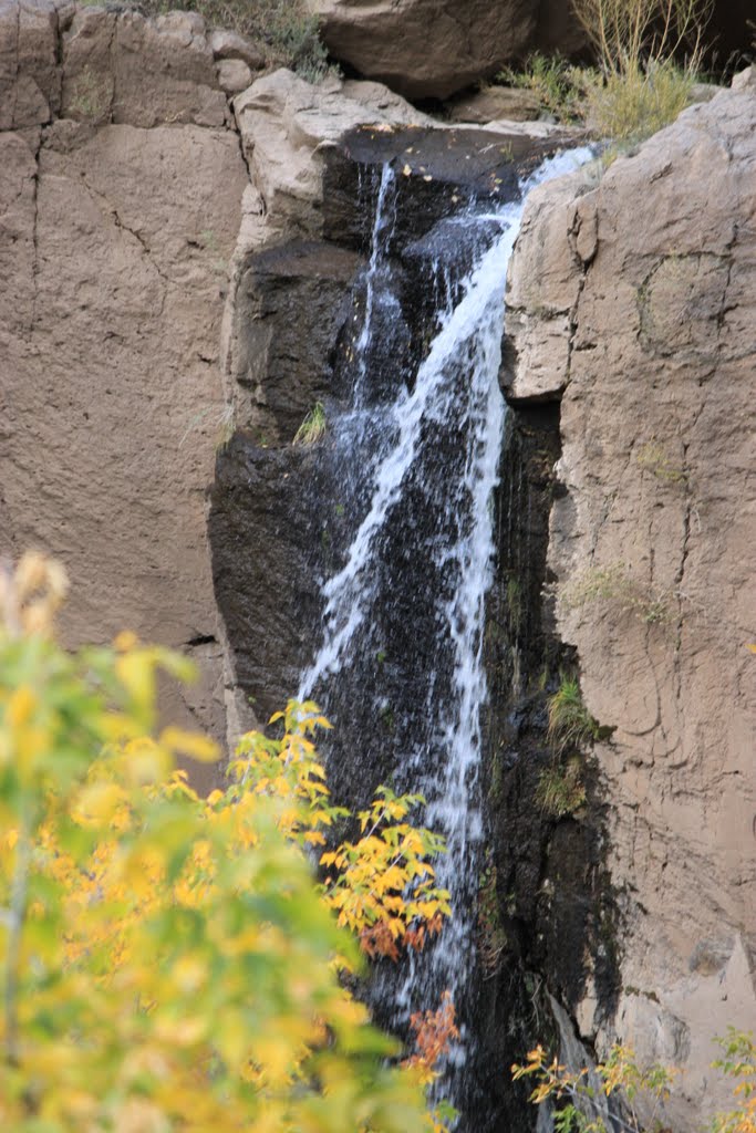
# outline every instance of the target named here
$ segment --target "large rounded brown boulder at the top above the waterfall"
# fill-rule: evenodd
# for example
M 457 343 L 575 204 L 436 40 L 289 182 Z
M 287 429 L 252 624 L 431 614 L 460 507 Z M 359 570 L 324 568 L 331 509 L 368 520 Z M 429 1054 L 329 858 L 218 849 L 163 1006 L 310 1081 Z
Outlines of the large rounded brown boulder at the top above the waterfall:
M 308 0 L 331 54 L 410 99 L 447 99 L 521 54 L 534 0 Z

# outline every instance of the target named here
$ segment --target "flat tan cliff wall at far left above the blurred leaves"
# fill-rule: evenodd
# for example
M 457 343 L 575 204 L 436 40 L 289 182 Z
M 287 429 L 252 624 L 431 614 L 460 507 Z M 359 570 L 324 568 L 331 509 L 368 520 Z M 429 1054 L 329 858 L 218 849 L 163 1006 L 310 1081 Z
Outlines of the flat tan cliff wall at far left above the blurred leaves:
M 73 581 L 66 633 L 184 648 L 224 733 L 204 491 L 247 173 L 204 24 L 0 6 L 0 551 Z

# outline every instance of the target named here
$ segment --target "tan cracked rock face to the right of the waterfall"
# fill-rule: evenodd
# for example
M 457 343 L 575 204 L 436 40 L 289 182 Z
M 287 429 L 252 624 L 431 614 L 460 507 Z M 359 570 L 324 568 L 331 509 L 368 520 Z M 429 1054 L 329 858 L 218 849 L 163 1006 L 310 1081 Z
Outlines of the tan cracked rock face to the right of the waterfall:
M 681 1066 L 669 1124 L 728 1105 L 712 1042 L 753 1026 L 756 97 L 686 111 L 603 179 L 533 194 L 511 263 L 504 384 L 562 394 L 550 566 L 596 746 L 623 911 L 611 1015 Z

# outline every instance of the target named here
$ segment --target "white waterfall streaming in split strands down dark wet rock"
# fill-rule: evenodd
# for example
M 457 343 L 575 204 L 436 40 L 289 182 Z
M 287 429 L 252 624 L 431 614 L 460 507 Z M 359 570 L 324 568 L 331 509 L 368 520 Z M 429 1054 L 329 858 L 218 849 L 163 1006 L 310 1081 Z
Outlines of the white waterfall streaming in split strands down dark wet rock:
M 401 1029 L 411 1012 L 435 1007 L 451 990 L 461 1037 L 440 1094 L 462 1110 L 460 1128 L 472 1127 L 464 1111 L 475 1094 L 469 1005 L 485 825 L 478 776 L 485 600 L 506 412 L 499 387 L 504 282 L 528 190 L 589 156 L 580 150 L 551 157 L 521 185 L 519 199 L 495 212 L 490 204 L 467 206 L 443 222 L 452 242 L 456 233 L 473 241 L 473 266 L 455 279 L 442 256 L 426 262 L 438 308 L 411 373 L 404 365 L 401 288 L 392 266 L 396 178 L 383 168 L 351 349 L 351 400 L 331 421 L 326 459 L 345 545 L 322 583 L 323 638 L 299 697 L 314 697 L 335 725 L 331 777 L 343 773 L 347 759 L 359 760 L 367 791 L 391 780 L 421 792 L 425 824 L 447 838 L 438 880 L 450 891 L 453 919 L 398 972 L 379 965 L 371 994 L 383 1021 Z

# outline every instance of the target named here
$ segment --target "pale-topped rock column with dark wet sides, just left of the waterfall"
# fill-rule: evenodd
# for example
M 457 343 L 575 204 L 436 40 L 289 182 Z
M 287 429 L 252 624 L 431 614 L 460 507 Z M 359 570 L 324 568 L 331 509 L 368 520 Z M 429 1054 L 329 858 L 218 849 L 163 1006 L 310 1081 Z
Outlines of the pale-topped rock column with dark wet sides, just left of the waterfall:
M 280 708 L 312 659 L 317 578 L 333 572 L 338 553 L 338 491 L 316 489 L 316 453 L 291 441 L 316 401 L 343 393 L 340 358 L 364 298 L 382 162 L 398 173 L 402 279 L 421 308 L 432 250 L 423 240 L 438 237 L 433 253 L 442 252 L 435 222 L 473 194 L 511 190 L 512 159 L 546 145 L 525 134 L 439 129 L 381 84 L 314 87 L 284 70 L 260 78 L 233 110 L 252 182 L 222 347 L 238 432 L 219 455 L 210 514 L 236 674 L 232 732 Z M 387 342 L 396 330 L 387 329 Z M 387 359 L 394 377 L 397 358 Z

